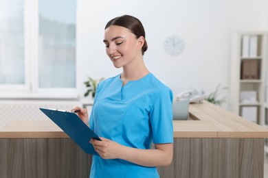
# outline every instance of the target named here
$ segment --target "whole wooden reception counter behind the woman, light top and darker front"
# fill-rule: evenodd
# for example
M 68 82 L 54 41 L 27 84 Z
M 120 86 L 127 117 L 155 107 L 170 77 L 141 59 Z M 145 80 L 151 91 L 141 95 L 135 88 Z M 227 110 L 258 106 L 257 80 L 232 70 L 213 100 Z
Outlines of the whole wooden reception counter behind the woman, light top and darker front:
M 174 156 L 160 177 L 263 177 L 268 130 L 208 102 L 174 120 Z M 50 120 L 12 121 L 0 130 L 0 177 L 89 177 L 84 153 Z

